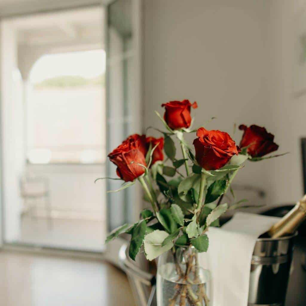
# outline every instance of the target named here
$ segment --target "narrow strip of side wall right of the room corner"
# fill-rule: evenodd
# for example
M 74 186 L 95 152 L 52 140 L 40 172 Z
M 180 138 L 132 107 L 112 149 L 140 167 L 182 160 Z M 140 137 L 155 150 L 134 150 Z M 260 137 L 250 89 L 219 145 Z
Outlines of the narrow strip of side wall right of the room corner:
M 293 93 L 293 83 L 296 81 L 294 67 L 298 57 L 295 50 L 298 38 L 296 26 L 300 9 L 297 1 L 272 2 L 271 120 L 279 135 L 280 147 L 283 151 L 290 151 L 281 162 L 275 159 L 271 163 L 273 170 L 270 175 L 270 194 L 276 203 L 297 201 L 303 192 L 300 137 L 306 136 L 306 95 L 294 98 Z M 305 13 L 302 18 L 305 19 Z

